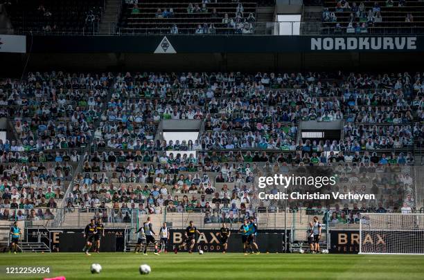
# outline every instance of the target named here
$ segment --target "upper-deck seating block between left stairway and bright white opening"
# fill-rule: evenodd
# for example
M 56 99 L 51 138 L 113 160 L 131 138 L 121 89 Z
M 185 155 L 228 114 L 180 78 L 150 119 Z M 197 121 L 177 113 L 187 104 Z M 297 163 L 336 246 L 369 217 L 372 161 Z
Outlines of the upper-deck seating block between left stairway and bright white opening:
M 136 1 L 137 2 L 137 1 Z M 218 2 L 218 3 L 217 3 Z M 252 34 L 256 1 L 125 1 L 122 34 Z

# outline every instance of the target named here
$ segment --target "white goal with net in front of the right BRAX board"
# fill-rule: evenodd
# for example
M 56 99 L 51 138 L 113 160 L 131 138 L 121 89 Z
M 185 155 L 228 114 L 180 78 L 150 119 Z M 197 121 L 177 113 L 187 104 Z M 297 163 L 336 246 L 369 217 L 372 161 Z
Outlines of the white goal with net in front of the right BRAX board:
M 424 254 L 424 214 L 360 213 L 360 254 Z

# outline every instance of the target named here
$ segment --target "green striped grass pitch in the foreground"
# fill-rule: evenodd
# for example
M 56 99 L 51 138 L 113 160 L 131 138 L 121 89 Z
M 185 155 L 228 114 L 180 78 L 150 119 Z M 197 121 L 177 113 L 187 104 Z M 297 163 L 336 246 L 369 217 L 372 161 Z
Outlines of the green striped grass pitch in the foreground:
M 91 263 L 102 272 L 91 274 Z M 152 268 L 139 273 L 139 265 Z M 6 275 L 10 266 L 51 266 L 43 275 Z M 424 279 L 424 256 L 347 254 L 0 254 L 0 279 Z

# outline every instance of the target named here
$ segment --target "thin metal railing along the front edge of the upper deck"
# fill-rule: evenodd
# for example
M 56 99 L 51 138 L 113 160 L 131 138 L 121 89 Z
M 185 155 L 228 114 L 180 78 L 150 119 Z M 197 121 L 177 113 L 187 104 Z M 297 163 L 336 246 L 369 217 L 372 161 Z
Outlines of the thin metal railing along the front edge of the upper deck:
M 106 32 L 99 32 L 99 22 L 95 21 L 93 26 L 82 28 L 80 31 L 69 30 L 37 30 L 28 28 L 9 28 L 3 30 L 6 33 L 13 33 L 16 35 L 48 35 L 48 36 L 96 36 L 96 35 L 109 35 L 109 36 L 150 36 L 150 35 L 193 35 L 193 36 L 213 36 L 213 35 L 337 35 L 337 36 L 355 36 L 355 35 L 407 35 L 407 34 L 422 34 L 424 33 L 424 22 L 414 22 L 410 26 L 399 26 L 395 22 L 385 22 L 385 26 L 367 26 L 366 28 L 347 28 L 348 23 L 342 24 L 341 28 L 335 26 L 328 26 L 331 23 L 326 22 L 308 22 L 308 21 L 279 21 L 279 22 L 255 22 L 250 28 L 233 28 L 233 27 L 216 27 L 213 29 L 200 28 L 196 32 L 193 28 L 178 28 L 180 23 L 175 19 L 166 22 L 168 25 L 158 24 L 154 27 L 118 27 L 114 23 L 107 26 Z M 178 32 L 171 32 L 173 24 L 177 25 Z M 200 24 L 200 23 L 198 23 Z M 195 25 L 195 24 L 193 24 Z M 197 25 L 197 24 L 196 24 Z M 218 24 L 217 24 L 218 25 Z M 203 26 L 203 24 L 202 24 Z M 93 32 L 93 30 L 95 30 Z

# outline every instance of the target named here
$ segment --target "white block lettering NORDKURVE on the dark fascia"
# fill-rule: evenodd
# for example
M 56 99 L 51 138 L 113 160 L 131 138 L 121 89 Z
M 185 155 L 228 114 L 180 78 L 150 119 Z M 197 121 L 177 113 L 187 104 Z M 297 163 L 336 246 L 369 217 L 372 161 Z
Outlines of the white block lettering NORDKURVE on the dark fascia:
M 416 37 L 321 37 L 310 50 L 416 50 Z

